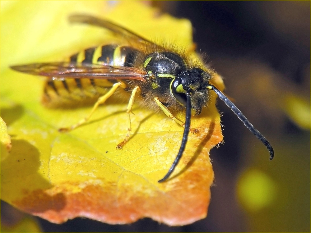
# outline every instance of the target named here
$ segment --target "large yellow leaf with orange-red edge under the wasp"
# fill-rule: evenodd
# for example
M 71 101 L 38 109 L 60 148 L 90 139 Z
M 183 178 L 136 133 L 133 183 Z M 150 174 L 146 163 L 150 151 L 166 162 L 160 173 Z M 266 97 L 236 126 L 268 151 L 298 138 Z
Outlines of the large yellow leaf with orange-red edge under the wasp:
M 39 101 L 43 82 L 7 67 L 61 61 L 100 44 L 105 30 L 67 23 L 75 12 L 104 16 L 147 39 L 173 41 L 182 48 L 192 46 L 191 23 L 159 16 L 141 2 L 34 1 L 31 7 L 25 2 L 1 8 L 1 105 L 21 108 L 19 114 L 14 107 L 1 109 L 10 121 L 9 134 L 15 135 L 11 154 L 1 163 L 1 198 L 55 223 L 89 217 L 120 224 L 151 217 L 173 226 L 204 218 L 214 179 L 209 151 L 222 141 L 216 95 L 192 119 L 191 126 L 200 132 L 189 135 L 172 178 L 160 184 L 178 153 L 181 126 L 163 113 L 134 105 L 131 138 L 116 150 L 127 132 L 127 104 L 108 102 L 90 123 L 61 134 L 58 128 L 77 123 L 91 107 L 44 108 Z M 213 84 L 224 88 L 219 76 Z

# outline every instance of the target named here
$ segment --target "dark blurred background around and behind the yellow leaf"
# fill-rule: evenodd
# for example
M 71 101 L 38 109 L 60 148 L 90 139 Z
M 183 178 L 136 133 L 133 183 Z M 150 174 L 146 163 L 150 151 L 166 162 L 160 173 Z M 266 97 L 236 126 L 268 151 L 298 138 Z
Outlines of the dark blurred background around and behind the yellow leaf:
M 215 185 L 207 218 L 180 227 L 150 219 L 108 225 L 77 218 L 56 225 L 36 218 L 42 231 L 310 232 L 310 1 L 145 3 L 192 22 L 197 49 L 273 145 L 275 158 L 270 162 L 265 146 L 218 101 L 225 143 L 210 153 Z M 1 207 L 3 221 L 8 210 L 17 212 Z

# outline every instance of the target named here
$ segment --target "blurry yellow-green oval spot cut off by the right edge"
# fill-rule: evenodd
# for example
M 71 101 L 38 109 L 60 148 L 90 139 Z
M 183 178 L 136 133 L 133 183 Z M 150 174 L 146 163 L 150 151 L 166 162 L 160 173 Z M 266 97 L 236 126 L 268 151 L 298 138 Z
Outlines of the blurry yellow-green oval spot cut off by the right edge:
M 283 106 L 288 117 L 300 128 L 310 130 L 310 103 L 295 95 L 288 95 Z

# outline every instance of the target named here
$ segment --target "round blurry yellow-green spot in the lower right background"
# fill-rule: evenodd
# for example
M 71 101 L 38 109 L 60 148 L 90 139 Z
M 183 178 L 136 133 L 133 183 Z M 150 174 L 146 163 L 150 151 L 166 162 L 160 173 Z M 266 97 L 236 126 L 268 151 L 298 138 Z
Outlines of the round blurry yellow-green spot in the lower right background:
M 240 177 L 237 194 L 245 209 L 257 212 L 274 201 L 276 185 L 265 173 L 253 169 Z

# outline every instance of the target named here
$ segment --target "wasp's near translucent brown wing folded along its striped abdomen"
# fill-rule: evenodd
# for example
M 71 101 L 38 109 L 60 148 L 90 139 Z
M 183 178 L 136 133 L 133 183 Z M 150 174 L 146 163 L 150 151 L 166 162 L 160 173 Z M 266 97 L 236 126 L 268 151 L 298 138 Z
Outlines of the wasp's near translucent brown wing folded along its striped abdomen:
M 146 81 L 146 71 L 124 66 L 106 66 L 90 63 L 34 63 L 21 66 L 11 66 L 13 70 L 32 75 L 51 77 L 53 80 L 65 78 L 92 78 L 92 79 L 136 79 Z

